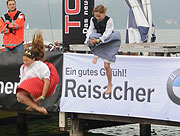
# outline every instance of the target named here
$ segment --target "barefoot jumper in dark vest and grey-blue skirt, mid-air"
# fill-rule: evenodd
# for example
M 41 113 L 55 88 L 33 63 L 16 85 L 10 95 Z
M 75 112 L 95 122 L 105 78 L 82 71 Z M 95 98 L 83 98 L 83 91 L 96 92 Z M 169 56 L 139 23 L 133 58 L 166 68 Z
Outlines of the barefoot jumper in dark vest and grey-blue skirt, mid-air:
M 115 62 L 115 54 L 120 47 L 120 33 L 113 32 L 113 19 L 106 16 L 107 8 L 98 5 L 94 8 L 94 17 L 90 20 L 90 26 L 86 34 L 87 44 L 94 54 L 93 63 L 96 64 L 98 57 L 104 60 L 104 68 L 108 79 L 106 94 L 112 89 L 112 69 L 110 63 Z

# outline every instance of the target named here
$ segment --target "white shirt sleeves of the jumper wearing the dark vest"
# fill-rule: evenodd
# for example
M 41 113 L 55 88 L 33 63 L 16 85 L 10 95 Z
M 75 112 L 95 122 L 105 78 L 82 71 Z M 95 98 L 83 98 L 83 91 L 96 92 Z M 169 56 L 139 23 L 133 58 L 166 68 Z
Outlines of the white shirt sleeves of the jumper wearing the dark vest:
M 106 24 L 106 30 L 103 33 L 103 35 L 101 37 L 99 37 L 99 39 L 102 42 L 104 42 L 104 40 L 106 40 L 108 38 L 108 36 L 111 35 L 113 30 L 114 30 L 114 22 L 113 22 L 112 18 L 109 18 L 109 20 L 107 21 L 107 24 Z M 89 26 L 89 29 L 88 29 L 87 34 L 86 34 L 86 40 L 84 42 L 85 44 L 87 44 L 87 41 L 89 40 L 89 36 L 92 34 L 92 32 L 97 32 L 95 27 L 94 27 L 93 17 L 90 20 L 90 26 Z

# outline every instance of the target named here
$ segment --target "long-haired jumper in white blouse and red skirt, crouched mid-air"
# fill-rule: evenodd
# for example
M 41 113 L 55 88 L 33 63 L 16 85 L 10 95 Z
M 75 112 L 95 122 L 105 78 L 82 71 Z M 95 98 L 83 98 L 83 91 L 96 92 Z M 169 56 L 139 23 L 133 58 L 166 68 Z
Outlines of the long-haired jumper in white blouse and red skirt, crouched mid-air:
M 59 76 L 53 64 L 43 62 L 45 50 L 42 33 L 34 34 L 32 46 L 25 49 L 24 64 L 20 68 L 20 83 L 17 87 L 17 100 L 26 104 L 26 110 L 37 110 L 48 114 L 39 102 L 51 96 L 59 82 Z

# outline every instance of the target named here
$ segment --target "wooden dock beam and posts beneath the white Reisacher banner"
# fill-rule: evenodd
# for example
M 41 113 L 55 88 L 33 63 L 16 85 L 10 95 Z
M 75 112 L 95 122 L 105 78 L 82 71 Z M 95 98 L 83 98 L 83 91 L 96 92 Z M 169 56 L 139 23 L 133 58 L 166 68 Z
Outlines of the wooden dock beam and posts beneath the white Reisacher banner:
M 65 113 L 61 113 L 61 114 L 64 114 L 65 117 Z M 137 117 L 81 114 L 81 113 L 66 113 L 66 116 L 68 116 L 70 119 L 70 136 L 84 136 L 84 131 L 89 129 L 127 125 L 127 124 L 139 124 L 140 136 L 151 136 L 151 124 L 180 126 L 180 122 L 137 118 Z M 59 118 L 59 121 L 60 120 L 62 121 L 61 117 Z M 60 124 L 59 126 L 60 130 L 63 130 L 61 128 L 62 124 Z

